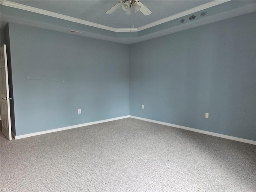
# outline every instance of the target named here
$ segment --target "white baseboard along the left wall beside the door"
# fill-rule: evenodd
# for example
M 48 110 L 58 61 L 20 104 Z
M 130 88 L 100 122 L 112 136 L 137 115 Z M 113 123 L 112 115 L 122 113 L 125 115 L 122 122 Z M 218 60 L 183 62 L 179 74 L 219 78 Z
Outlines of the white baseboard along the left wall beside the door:
M 63 131 L 63 130 L 68 130 L 68 129 L 74 129 L 74 128 L 78 128 L 78 127 L 84 127 L 84 126 L 89 126 L 89 125 L 93 125 L 93 124 L 124 119 L 124 118 L 128 118 L 128 117 L 130 117 L 130 115 L 122 116 L 122 117 L 116 117 L 116 118 L 112 118 L 112 119 L 94 121 L 94 122 L 89 122 L 89 123 L 84 123 L 84 124 L 72 125 L 72 126 L 62 127 L 62 128 L 52 129 L 52 130 L 46 130 L 46 131 L 40 131 L 40 132 L 29 133 L 29 134 L 24 134 L 24 135 L 18 135 L 18 136 L 15 136 L 15 139 L 22 139 L 22 138 L 32 137 L 32 136 L 36 136 L 36 135 L 42 135 L 42 134 L 46 134 L 46 133 L 52 133 L 52 132 Z

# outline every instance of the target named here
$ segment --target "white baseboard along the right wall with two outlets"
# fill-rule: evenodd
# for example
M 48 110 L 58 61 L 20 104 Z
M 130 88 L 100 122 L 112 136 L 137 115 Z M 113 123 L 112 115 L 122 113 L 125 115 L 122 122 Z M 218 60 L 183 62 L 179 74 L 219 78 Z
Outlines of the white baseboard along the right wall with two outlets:
M 216 136 L 216 137 L 221 137 L 221 138 L 225 138 L 225 139 L 230 139 L 230 140 L 235 140 L 235 141 L 240 141 L 240 142 L 256 145 L 256 141 L 253 141 L 253 140 L 248 140 L 248 139 L 243 139 L 243 138 L 239 138 L 239 137 L 223 135 L 223 134 L 214 133 L 214 132 L 210 132 L 210 131 L 204 131 L 204 130 L 200 130 L 200 129 L 195 129 L 195 128 L 185 127 L 185 126 L 181 126 L 181 125 L 170 124 L 170 123 L 166 123 L 166 122 L 161 122 L 161 121 L 136 117 L 136 116 L 132 116 L 132 115 L 130 115 L 130 118 L 139 119 L 139 120 L 143 120 L 143 121 L 148 121 L 148 122 L 152 122 L 152 123 L 157 123 L 157 124 L 161 124 L 161 125 L 176 127 L 176 128 L 185 129 L 185 130 L 189 130 L 189 131 L 194 131 L 194 132 L 198 132 L 198 133 L 202 133 L 202 134 L 206 134 L 206 135 L 212 135 L 212 136 Z

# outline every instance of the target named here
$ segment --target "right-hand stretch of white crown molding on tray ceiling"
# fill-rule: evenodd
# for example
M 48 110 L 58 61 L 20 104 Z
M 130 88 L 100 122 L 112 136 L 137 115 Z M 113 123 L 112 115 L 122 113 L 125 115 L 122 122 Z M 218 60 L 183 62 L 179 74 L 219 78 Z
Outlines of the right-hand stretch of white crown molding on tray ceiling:
M 192 8 L 192 9 L 189 9 L 189 10 L 180 12 L 178 14 L 172 15 L 170 17 L 166 17 L 166 18 L 160 19 L 158 21 L 152 22 L 150 24 L 138 27 L 138 31 L 141 31 L 141 30 L 144 30 L 144 29 L 147 29 L 147 28 L 150 28 L 150 27 L 154 27 L 156 25 L 159 25 L 159 24 L 162 24 L 162 23 L 165 23 L 165 22 L 168 22 L 168 21 L 180 18 L 180 17 L 184 17 L 186 15 L 189 15 L 189 14 L 192 14 L 192 13 L 195 13 L 195 12 L 198 12 L 198 11 L 201 11 L 201 10 L 204 10 L 204 9 L 207 9 L 207 8 L 210 8 L 210 7 L 213 7 L 213 6 L 228 2 L 228 1 L 230 1 L 230 0 L 214 0 L 214 1 L 211 1 L 211 2 L 206 3 L 206 4 L 202 4 L 200 6 Z

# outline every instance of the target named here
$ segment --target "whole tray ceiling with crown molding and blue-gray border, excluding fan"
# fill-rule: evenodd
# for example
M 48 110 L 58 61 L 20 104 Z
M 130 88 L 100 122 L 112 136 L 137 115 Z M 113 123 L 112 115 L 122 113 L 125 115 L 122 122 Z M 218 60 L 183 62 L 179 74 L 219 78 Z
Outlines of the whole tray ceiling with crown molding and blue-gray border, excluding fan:
M 152 14 L 124 14 L 119 8 L 105 14 L 117 1 L 16 0 L 1 1 L 1 29 L 7 22 L 125 44 L 171 34 L 256 11 L 256 1 L 142 0 Z M 202 16 L 202 12 L 206 12 Z M 195 15 L 194 20 L 189 17 Z M 181 20 L 184 19 L 184 23 Z M 134 29 L 130 26 L 134 24 Z

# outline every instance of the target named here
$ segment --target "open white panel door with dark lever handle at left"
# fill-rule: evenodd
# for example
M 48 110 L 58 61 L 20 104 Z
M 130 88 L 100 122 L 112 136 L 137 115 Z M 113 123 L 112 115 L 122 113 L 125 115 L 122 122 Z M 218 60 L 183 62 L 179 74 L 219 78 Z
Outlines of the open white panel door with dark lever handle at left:
M 1 46 L 1 119 L 2 119 L 2 132 L 8 140 L 12 140 L 11 128 L 11 112 L 10 112 L 10 96 L 9 96 L 9 82 L 8 82 L 8 68 L 7 68 L 7 55 L 6 45 Z

